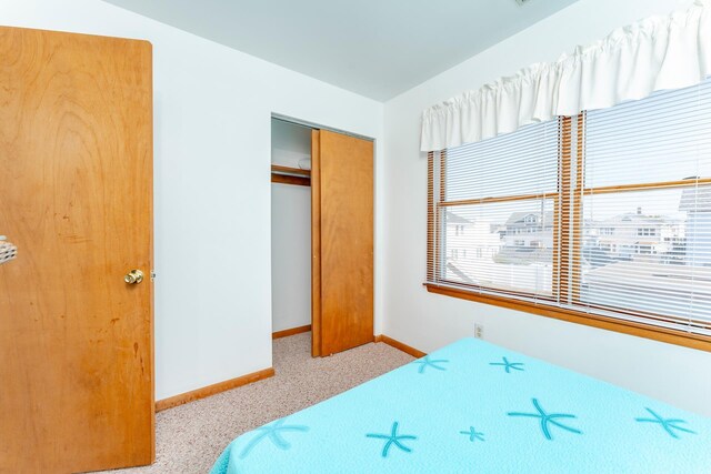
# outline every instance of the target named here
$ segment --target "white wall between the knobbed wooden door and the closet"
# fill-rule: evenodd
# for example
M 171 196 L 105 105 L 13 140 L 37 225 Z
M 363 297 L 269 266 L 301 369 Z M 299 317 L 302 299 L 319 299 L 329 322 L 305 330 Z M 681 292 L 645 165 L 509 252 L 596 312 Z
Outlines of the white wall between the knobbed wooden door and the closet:
M 97 0 L 0 0 L 0 24 L 153 44 L 157 399 L 271 366 L 271 113 L 375 138 L 381 171 L 383 105 Z

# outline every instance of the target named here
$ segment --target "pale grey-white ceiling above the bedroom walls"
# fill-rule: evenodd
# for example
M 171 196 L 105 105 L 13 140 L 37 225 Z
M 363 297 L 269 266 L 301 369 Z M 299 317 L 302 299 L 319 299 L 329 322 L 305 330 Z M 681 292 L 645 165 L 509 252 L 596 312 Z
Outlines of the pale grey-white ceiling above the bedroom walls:
M 577 0 L 106 0 L 379 101 Z

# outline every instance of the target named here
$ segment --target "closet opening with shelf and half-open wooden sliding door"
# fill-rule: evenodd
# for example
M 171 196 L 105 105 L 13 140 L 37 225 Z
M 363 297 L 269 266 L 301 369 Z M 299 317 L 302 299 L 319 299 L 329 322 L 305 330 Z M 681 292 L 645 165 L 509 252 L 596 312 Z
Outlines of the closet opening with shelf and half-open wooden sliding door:
M 373 341 L 373 141 L 272 117 L 272 327 L 312 355 Z

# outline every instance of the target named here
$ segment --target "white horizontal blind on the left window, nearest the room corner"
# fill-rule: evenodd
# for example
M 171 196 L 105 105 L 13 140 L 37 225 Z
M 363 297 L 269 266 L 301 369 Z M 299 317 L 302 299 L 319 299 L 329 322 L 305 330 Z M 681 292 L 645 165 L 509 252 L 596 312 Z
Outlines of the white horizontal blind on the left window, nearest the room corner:
M 431 279 L 553 297 L 559 133 L 554 120 L 432 154 Z

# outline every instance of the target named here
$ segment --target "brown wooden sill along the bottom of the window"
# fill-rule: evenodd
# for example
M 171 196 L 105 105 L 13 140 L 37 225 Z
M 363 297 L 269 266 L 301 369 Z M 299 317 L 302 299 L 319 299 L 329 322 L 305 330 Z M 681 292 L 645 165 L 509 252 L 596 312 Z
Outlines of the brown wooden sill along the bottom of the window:
M 461 300 L 469 300 L 478 303 L 491 304 L 493 306 L 523 311 L 525 313 L 537 314 L 540 316 L 553 317 L 555 320 L 584 324 L 587 326 L 599 327 L 607 331 L 614 331 L 623 334 L 634 335 L 638 337 L 665 342 L 668 344 L 681 345 L 684 347 L 697 349 L 699 351 L 711 352 L 711 337 L 699 334 L 689 334 L 680 331 L 668 330 L 664 327 L 653 327 L 634 322 L 620 321 L 611 317 L 589 314 L 582 311 L 568 310 L 545 304 L 529 303 L 525 301 L 519 301 L 504 296 L 479 294 L 449 286 L 439 286 L 431 283 L 425 283 L 424 286 L 427 288 L 428 292 L 441 294 L 444 296 L 459 297 Z

